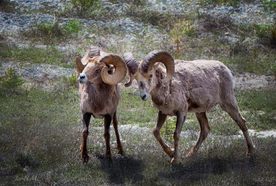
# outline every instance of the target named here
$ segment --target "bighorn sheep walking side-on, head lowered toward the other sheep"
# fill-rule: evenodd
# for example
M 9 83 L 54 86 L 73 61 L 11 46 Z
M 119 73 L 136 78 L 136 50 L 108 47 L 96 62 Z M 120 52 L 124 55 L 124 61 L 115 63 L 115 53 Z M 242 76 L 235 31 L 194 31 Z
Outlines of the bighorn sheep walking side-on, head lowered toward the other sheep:
M 175 60 L 165 51 L 153 50 L 137 63 L 132 53 L 126 53 L 124 59 L 130 76 L 125 86 L 130 86 L 132 76 L 139 84 L 142 100 L 151 95 L 152 104 L 159 109 L 157 124 L 153 134 L 172 163 L 179 162 L 179 135 L 188 112 L 195 113 L 200 125 L 199 138 L 186 157 L 197 154 L 199 146 L 210 131 L 206 111 L 217 103 L 226 111 L 242 129 L 248 146 L 248 155 L 253 154 L 254 145 L 237 106 L 233 90 L 233 77 L 229 69 L 218 61 L 195 60 L 184 62 Z M 160 63 L 166 66 L 161 66 Z M 167 115 L 176 115 L 174 133 L 175 149 L 170 149 L 161 139 L 160 129 Z

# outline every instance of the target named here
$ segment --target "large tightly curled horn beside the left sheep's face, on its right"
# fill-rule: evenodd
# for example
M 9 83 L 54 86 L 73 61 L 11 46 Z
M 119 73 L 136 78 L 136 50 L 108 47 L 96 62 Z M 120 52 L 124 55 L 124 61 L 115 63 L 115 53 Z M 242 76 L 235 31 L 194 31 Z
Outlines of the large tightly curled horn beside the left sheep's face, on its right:
M 101 70 L 101 79 L 106 84 L 115 85 L 119 82 L 123 81 L 126 76 L 126 64 L 119 55 L 103 53 L 101 57 L 99 57 L 99 62 L 106 64 Z M 108 66 L 113 65 L 115 67 L 115 73 L 108 73 Z

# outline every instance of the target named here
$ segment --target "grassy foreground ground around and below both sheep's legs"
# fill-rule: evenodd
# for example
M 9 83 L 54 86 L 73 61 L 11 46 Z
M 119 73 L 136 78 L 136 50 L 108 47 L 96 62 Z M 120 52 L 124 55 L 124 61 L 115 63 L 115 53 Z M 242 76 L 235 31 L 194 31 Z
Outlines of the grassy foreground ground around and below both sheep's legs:
M 69 89 L 69 90 L 68 90 Z M 61 91 L 60 91 L 61 90 Z M 252 129 L 275 129 L 275 91 L 237 92 L 237 100 Z M 90 162 L 80 160 L 81 113 L 77 90 L 45 92 L 2 90 L 0 97 L 1 185 L 273 185 L 275 184 L 275 138 L 253 138 L 255 158 L 245 155 L 244 139 L 207 138 L 194 159 L 184 158 L 196 136 L 181 138 L 181 163 L 170 166 L 150 132 L 157 110 L 141 102 L 135 91 L 125 89 L 119 104 L 120 124 L 149 127 L 141 133 L 120 131 L 126 156 L 115 155 L 115 134 L 111 130 L 113 162 L 104 159 L 105 142 L 101 120 L 92 120 L 88 148 Z M 141 109 L 144 106 L 144 109 Z M 262 111 L 263 117 L 258 113 Z M 217 106 L 208 113 L 211 133 L 229 135 L 238 127 Z M 199 131 L 190 114 L 183 130 Z M 164 133 L 165 135 L 166 133 Z M 170 135 L 170 134 L 168 134 Z M 172 141 L 168 140 L 170 145 Z

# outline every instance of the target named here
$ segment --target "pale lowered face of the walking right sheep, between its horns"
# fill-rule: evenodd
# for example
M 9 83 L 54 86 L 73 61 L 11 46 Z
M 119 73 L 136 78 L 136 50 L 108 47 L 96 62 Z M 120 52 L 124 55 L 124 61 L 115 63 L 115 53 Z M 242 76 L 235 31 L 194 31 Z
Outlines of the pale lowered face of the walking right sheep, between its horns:
M 133 76 L 137 83 L 139 84 L 139 93 L 142 100 L 148 100 L 150 92 L 155 88 L 157 84 L 157 77 L 155 76 L 155 68 L 152 68 L 148 74 L 144 75 L 141 70 L 137 71 Z

